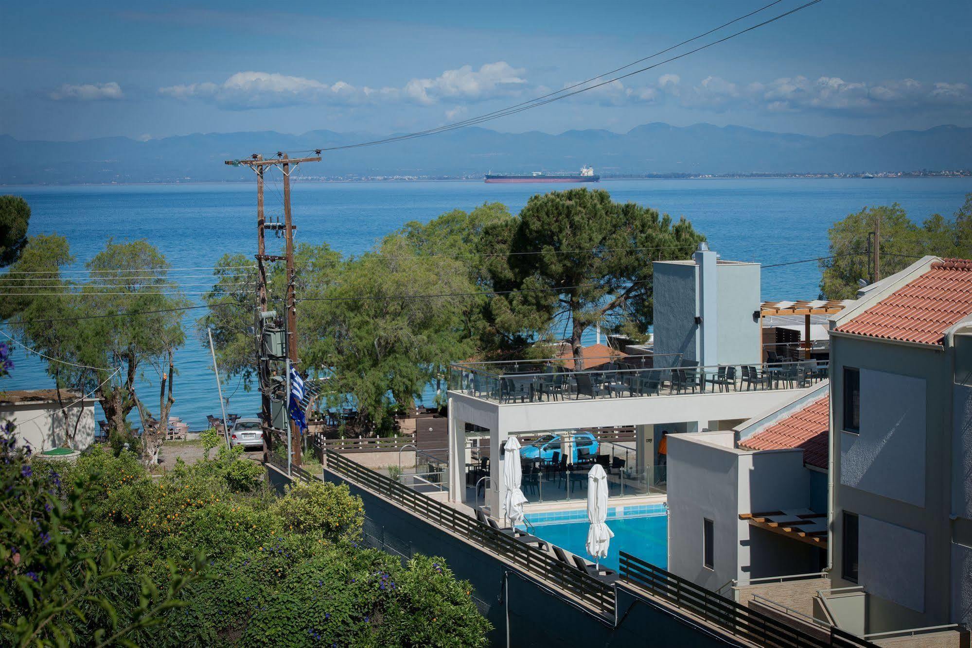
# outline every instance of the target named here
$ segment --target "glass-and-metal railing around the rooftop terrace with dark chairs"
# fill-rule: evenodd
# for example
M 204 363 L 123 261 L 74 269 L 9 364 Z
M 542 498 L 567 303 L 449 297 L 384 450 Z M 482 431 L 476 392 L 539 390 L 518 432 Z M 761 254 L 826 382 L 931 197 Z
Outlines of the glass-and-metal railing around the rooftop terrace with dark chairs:
M 794 360 L 712 366 L 633 367 L 610 362 L 574 371 L 549 363 L 490 367 L 454 363 L 449 390 L 498 403 L 648 397 L 705 392 L 804 389 L 827 378 L 827 361 Z

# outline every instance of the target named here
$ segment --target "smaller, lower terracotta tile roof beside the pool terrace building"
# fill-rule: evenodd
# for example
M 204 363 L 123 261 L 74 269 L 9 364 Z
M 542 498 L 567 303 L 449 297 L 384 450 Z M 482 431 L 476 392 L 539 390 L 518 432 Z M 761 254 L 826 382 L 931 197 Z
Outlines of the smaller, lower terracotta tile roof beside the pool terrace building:
M 788 450 L 801 448 L 803 462 L 827 468 L 827 436 L 830 430 L 830 396 L 817 398 L 752 436 L 739 442 L 746 450 Z

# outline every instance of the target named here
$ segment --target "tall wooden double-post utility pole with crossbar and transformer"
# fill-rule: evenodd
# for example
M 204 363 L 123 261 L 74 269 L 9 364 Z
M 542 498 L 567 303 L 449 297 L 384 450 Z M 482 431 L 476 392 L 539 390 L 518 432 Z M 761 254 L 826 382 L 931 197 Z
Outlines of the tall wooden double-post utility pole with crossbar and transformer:
M 258 367 L 258 376 L 260 377 L 260 393 L 261 393 L 261 416 L 260 420 L 263 422 L 263 460 L 269 459 L 269 428 L 271 423 L 271 413 L 270 413 L 270 394 L 269 394 L 269 377 L 270 377 L 270 367 L 269 359 L 263 359 L 262 353 L 260 353 L 260 347 L 262 345 L 262 325 L 265 324 L 261 316 L 262 313 L 266 312 L 268 295 L 266 290 L 266 265 L 267 262 L 273 261 L 285 261 L 287 264 L 287 294 L 285 299 L 285 308 L 287 313 L 285 316 L 286 322 L 286 335 L 287 335 L 287 360 L 285 365 L 286 371 L 286 385 L 290 385 L 290 365 L 295 364 L 297 361 L 297 318 L 296 318 L 296 288 L 294 285 L 295 279 L 295 263 L 294 263 L 294 222 L 291 215 L 291 173 L 296 169 L 297 165 L 301 162 L 320 162 L 321 152 L 317 151 L 315 157 L 297 157 L 291 159 L 286 153 L 277 153 L 276 159 L 263 159 L 260 154 L 254 154 L 249 159 L 238 159 L 231 160 L 227 159 L 226 164 L 231 166 L 248 166 L 254 170 L 257 174 L 257 313 L 256 313 L 256 330 L 257 330 L 257 345 L 258 345 L 258 358 L 260 359 L 260 366 Z M 279 223 L 267 223 L 264 210 L 263 210 L 263 175 L 267 167 L 279 166 L 284 176 L 284 233 L 286 236 L 287 244 L 284 256 L 273 256 L 266 254 L 266 241 L 264 237 L 264 232 L 266 229 L 279 230 Z M 265 385 L 264 385 L 265 381 Z M 290 393 L 284 394 L 284 399 L 282 407 L 284 411 L 288 411 L 288 401 L 290 399 Z M 287 416 L 285 414 L 285 416 Z M 300 450 L 301 445 L 299 441 L 294 442 L 293 434 L 295 429 L 295 423 L 292 420 L 288 421 L 286 430 L 283 430 L 287 434 L 287 445 L 289 448 L 293 448 L 293 453 L 288 452 L 288 465 L 290 465 L 293 460 L 295 465 L 300 465 Z

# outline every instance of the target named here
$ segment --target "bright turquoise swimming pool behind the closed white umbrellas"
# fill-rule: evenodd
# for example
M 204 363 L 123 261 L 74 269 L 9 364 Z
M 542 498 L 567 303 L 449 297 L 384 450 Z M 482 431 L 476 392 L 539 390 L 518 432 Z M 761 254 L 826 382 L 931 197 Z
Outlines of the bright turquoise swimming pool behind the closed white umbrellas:
M 587 543 L 587 509 L 533 513 L 527 515 L 533 531 L 548 542 L 572 554 L 592 560 Z M 608 558 L 601 561 L 617 569 L 618 551 L 648 563 L 668 568 L 668 515 L 663 504 L 616 506 L 608 509 L 608 528 L 614 532 Z

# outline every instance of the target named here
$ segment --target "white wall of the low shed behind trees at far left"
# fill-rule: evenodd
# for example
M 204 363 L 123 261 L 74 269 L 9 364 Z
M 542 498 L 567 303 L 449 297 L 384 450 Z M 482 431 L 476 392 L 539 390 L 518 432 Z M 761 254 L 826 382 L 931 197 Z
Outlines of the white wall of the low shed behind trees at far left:
M 66 430 L 74 433 L 78 422 L 74 443 L 69 444 Z M 0 419 L 13 421 L 14 435 L 21 443 L 28 443 L 35 452 L 68 445 L 74 450 L 84 450 L 94 442 L 94 401 L 87 400 L 68 409 L 70 427 L 65 426 L 64 415 L 51 402 L 21 402 L 0 405 Z

